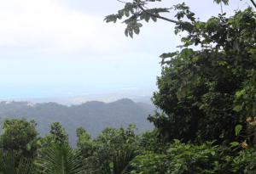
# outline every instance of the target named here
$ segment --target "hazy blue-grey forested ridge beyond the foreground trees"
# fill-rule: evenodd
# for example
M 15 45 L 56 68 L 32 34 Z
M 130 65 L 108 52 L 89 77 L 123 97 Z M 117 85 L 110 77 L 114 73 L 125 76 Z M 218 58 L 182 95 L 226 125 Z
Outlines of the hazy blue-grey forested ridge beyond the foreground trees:
M 27 102 L 12 102 L 0 104 L 0 117 L 2 121 L 6 115 L 17 119 L 24 116 L 26 121 L 36 121 L 39 137 L 49 134 L 52 121 L 61 121 L 61 126 L 65 127 L 66 133 L 69 134 L 69 144 L 74 147 L 77 141 L 76 128 L 79 126 L 84 127 L 92 139 L 101 134 L 106 126 L 119 128 L 120 125 L 126 127 L 129 123 L 134 123 L 138 128 L 136 134 L 153 130 L 153 124 L 146 119 L 149 114 L 154 114 L 155 109 L 153 105 L 134 103 L 128 98 L 109 104 L 91 101 L 70 107 L 52 102 L 36 104 L 34 107 L 27 105 Z

